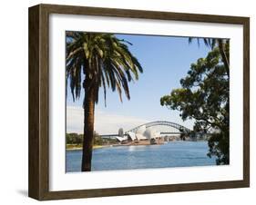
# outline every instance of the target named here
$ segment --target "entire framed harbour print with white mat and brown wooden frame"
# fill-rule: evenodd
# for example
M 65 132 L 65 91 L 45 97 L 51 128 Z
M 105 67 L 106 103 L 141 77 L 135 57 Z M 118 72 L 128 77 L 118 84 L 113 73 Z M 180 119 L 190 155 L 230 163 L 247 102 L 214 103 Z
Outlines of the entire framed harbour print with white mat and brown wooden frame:
M 250 19 L 29 8 L 29 196 L 250 185 Z

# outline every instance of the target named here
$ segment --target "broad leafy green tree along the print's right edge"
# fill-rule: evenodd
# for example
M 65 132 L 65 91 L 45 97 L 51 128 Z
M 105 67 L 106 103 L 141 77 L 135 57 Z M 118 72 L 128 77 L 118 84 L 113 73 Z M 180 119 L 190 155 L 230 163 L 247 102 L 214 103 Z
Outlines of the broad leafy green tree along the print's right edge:
M 229 56 L 229 44 L 224 44 Z M 183 120 L 194 119 L 194 131 L 214 132 L 208 155 L 217 164 L 229 163 L 229 70 L 222 61 L 220 47 L 206 58 L 192 63 L 188 75 L 180 80 L 181 88 L 160 99 L 162 106 L 178 110 Z

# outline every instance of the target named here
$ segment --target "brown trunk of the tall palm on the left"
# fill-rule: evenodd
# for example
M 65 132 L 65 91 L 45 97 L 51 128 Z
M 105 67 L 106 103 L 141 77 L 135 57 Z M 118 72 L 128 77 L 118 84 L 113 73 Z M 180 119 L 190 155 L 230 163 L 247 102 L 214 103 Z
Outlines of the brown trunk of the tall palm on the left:
M 93 136 L 94 136 L 94 87 L 90 89 L 85 88 L 85 102 L 84 102 L 84 142 L 81 171 L 91 171 L 91 160 L 93 150 Z

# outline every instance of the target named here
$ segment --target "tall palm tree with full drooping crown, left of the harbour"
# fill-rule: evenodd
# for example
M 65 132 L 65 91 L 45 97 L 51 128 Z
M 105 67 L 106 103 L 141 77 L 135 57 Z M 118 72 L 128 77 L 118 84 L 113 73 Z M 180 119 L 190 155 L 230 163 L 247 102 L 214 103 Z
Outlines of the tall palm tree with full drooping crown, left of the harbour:
M 118 91 L 122 102 L 122 90 L 130 99 L 128 82 L 138 80 L 142 67 L 128 50 L 130 44 L 114 34 L 67 32 L 66 81 L 69 83 L 73 100 L 85 92 L 84 142 L 81 171 L 91 171 L 94 133 L 95 103 L 102 87 L 106 106 L 107 88 Z

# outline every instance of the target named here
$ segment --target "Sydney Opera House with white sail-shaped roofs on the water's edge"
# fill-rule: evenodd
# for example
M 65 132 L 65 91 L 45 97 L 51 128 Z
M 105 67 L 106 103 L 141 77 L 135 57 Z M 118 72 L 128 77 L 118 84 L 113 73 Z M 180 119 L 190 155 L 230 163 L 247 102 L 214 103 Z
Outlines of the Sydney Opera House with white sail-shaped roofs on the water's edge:
M 157 132 L 152 128 L 146 128 L 146 125 L 139 127 L 136 132 L 127 132 L 126 134 L 123 133 L 122 129 L 119 129 L 117 140 L 121 144 L 127 145 L 163 143 L 160 132 Z

